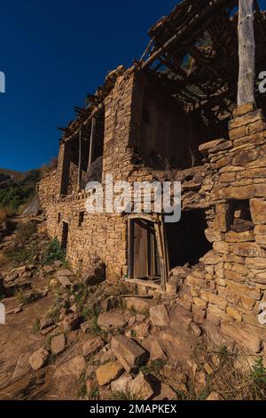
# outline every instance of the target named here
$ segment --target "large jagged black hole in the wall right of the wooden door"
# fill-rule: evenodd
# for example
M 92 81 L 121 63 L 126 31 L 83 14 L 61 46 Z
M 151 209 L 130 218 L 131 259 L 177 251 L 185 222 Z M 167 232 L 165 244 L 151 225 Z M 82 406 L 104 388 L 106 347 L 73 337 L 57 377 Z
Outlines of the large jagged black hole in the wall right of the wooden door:
M 187 263 L 190 267 L 197 265 L 200 258 L 212 249 L 205 236 L 204 210 L 183 212 L 179 222 L 166 223 L 165 227 L 170 269 Z

